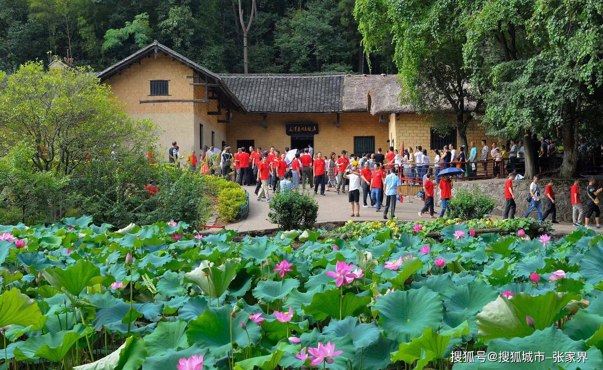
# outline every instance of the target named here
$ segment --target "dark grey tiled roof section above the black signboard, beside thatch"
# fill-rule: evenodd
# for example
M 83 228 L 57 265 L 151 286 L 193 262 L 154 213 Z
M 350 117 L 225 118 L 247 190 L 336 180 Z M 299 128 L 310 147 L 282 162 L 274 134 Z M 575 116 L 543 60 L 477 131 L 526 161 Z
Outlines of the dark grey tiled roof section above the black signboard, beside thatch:
M 248 112 L 341 112 L 343 73 L 221 74 Z

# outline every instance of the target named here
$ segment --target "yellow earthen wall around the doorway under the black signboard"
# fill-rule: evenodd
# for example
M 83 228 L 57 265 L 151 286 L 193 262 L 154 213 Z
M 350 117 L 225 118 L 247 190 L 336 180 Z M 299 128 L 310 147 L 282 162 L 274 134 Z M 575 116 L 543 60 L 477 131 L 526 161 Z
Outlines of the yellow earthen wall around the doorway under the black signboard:
M 285 133 L 286 123 L 317 123 L 314 152 L 341 153 L 354 150 L 354 136 L 375 136 L 375 149 L 388 147 L 388 123 L 379 123 L 379 116 L 367 112 L 341 113 L 336 127 L 335 113 L 268 113 L 267 128 L 262 127 L 261 113 L 233 113 L 232 123 L 226 125 L 227 144 L 235 147 L 237 140 L 254 140 L 264 150 L 271 146 L 279 150 L 291 146 L 291 136 Z

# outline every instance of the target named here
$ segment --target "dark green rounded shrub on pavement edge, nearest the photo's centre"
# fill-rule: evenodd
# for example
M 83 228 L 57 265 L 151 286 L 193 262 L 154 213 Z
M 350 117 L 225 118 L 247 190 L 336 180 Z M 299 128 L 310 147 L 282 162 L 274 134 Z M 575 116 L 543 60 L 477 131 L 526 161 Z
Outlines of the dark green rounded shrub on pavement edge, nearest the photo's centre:
M 318 218 L 318 202 L 308 193 L 277 193 L 270 203 L 268 219 L 281 230 L 311 229 Z

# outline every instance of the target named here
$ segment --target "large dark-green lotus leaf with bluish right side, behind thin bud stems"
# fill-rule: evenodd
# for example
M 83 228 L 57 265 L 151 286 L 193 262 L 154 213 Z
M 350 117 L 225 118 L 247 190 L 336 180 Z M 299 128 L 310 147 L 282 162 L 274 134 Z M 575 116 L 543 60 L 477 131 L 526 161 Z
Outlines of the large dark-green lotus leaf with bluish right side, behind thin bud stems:
M 213 356 L 220 357 L 230 351 L 231 341 L 230 333 L 232 331 L 232 342 L 240 348 L 247 348 L 250 342 L 257 343 L 260 338 L 260 327 L 258 325 L 247 325 L 247 333 L 239 325 L 239 321 L 245 321 L 248 313 L 239 311 L 236 318 L 230 316 L 232 308 L 230 306 L 208 307 L 201 316 L 189 322 L 189 328 L 186 330 L 189 345 L 208 348 Z

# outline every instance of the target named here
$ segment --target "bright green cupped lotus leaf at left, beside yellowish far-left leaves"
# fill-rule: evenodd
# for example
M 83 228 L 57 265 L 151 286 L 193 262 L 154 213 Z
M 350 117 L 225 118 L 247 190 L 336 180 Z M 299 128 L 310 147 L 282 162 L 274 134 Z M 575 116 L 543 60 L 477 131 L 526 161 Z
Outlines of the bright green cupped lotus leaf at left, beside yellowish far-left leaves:
M 84 288 L 94 285 L 92 278 L 101 276 L 101 270 L 90 261 L 79 260 L 67 269 L 60 267 L 43 270 L 44 278 L 58 290 L 65 288 L 72 295 L 79 295 Z

